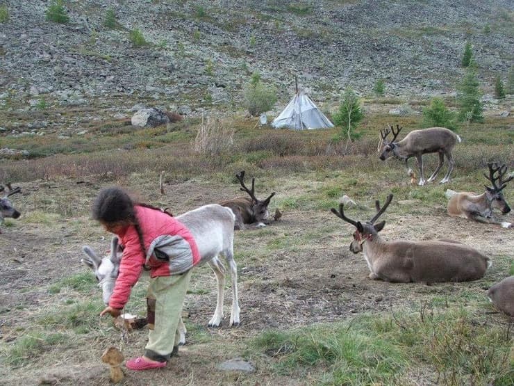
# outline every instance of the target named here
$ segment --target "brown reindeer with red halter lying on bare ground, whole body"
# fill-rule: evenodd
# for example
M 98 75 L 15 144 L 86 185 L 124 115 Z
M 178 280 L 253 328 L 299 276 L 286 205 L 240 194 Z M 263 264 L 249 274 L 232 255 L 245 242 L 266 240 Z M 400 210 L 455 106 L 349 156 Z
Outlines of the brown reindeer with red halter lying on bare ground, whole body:
M 463 282 L 481 278 L 490 266 L 490 259 L 478 250 L 453 240 L 385 241 L 379 235 L 386 221 L 374 222 L 386 211 L 392 200 L 380 207 L 376 200 L 376 214 L 367 221 L 351 220 L 345 216 L 344 204 L 339 211 L 331 211 L 347 223 L 354 225 L 351 252 L 363 252 L 370 279 L 386 282 Z

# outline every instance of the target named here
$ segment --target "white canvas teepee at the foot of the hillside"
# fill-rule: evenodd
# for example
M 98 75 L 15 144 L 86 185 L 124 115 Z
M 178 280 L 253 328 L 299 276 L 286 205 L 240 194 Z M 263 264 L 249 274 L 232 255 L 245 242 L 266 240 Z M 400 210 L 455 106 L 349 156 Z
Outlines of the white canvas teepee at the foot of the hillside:
M 272 122 L 272 127 L 280 129 L 304 130 L 333 127 L 333 123 L 320 111 L 312 99 L 298 90 L 288 106 Z

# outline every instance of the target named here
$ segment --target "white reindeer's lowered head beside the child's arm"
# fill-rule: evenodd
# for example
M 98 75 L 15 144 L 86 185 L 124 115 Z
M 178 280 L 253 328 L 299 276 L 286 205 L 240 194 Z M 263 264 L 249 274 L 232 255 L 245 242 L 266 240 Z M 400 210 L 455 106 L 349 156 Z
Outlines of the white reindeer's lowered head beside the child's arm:
M 118 244 L 118 238 L 114 236 L 110 243 L 110 256 L 101 258 L 89 246 L 83 246 L 82 250 L 88 257 L 81 259 L 81 262 L 94 271 L 102 291 L 103 303 L 108 305 L 118 277 L 119 262 L 122 259 L 122 248 Z

